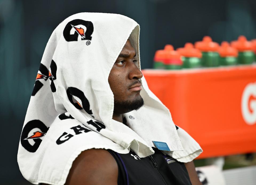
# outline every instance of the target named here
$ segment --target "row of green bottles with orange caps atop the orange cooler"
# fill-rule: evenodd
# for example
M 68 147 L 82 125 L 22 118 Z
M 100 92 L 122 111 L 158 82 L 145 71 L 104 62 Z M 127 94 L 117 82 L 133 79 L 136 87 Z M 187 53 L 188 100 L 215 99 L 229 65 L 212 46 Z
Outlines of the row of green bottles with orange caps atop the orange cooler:
M 157 50 L 154 56 L 155 69 L 182 69 L 200 67 L 218 67 L 226 65 L 252 64 L 256 58 L 256 39 L 248 41 L 245 36 L 221 46 L 205 36 L 202 41 L 186 43 L 183 48 L 167 44 L 163 50 Z

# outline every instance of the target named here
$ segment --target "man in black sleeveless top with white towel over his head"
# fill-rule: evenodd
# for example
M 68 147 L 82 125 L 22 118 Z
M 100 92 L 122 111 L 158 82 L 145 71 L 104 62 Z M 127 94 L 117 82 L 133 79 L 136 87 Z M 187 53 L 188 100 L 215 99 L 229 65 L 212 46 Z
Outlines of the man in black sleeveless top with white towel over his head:
M 93 35 L 96 29 L 104 31 Z M 49 107 L 56 113 L 45 111 L 31 118 L 34 102 L 40 101 L 32 94 L 18 153 L 26 179 L 35 184 L 66 185 L 201 184 L 192 161 L 201 148 L 185 131 L 175 128 L 169 112 L 147 88 L 139 69 L 138 31 L 137 23 L 129 18 L 100 13 L 73 15 L 56 28 L 42 59 L 52 59 L 51 93 L 47 84 L 41 85 L 41 91 L 35 83 L 33 91 L 34 96 L 41 93 L 39 99 L 54 105 Z M 102 35 L 105 37 L 98 39 L 102 43 L 97 42 L 96 37 Z M 91 41 L 91 48 L 84 40 Z M 43 68 L 38 77 L 44 75 Z M 53 99 L 45 99 L 45 94 L 52 94 Z M 52 118 L 45 119 L 45 115 Z M 45 122 L 50 128 L 43 126 Z M 27 158 L 34 160 L 28 163 Z M 31 168 L 36 172 L 26 171 Z

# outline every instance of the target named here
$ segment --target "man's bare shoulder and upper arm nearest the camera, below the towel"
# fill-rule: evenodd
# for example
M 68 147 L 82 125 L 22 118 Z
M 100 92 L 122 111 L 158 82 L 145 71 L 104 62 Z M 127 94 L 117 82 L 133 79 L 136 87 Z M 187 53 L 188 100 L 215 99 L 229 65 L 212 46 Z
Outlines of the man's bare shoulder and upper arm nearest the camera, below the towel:
M 117 185 L 118 166 L 105 149 L 82 151 L 74 160 L 65 185 Z

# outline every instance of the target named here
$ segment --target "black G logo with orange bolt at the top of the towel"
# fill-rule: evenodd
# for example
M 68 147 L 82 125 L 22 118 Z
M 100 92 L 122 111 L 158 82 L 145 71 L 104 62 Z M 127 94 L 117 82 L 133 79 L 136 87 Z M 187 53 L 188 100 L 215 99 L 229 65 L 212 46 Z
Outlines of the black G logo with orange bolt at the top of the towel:
M 74 34 L 70 34 L 72 28 L 74 28 Z M 63 30 L 63 36 L 67 42 L 77 41 L 78 36 L 81 37 L 81 40 L 91 40 L 91 34 L 93 34 L 93 23 L 82 19 L 71 20 Z M 90 43 L 87 41 L 86 45 Z

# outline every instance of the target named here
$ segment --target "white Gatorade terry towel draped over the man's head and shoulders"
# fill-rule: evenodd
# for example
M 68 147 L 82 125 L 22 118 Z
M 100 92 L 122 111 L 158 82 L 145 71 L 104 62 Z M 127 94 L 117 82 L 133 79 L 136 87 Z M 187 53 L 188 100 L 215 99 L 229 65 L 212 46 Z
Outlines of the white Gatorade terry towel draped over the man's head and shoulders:
M 53 31 L 43 54 L 18 150 L 22 175 L 33 184 L 65 183 L 75 158 L 91 148 L 139 157 L 154 153 L 152 141 L 166 142 L 166 154 L 192 161 L 202 149 L 176 130 L 169 110 L 141 79 L 145 101 L 124 114 L 127 126 L 112 120 L 110 70 L 127 39 L 139 58 L 139 25 L 118 14 L 78 13 Z

